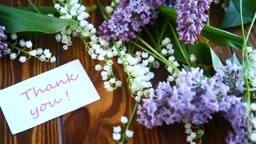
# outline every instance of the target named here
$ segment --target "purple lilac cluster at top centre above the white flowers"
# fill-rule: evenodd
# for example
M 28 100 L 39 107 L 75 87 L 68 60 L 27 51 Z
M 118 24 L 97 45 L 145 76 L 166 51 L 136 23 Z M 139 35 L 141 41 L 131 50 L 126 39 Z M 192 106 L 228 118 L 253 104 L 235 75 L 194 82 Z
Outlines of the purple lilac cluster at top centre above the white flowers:
M 141 27 L 154 23 L 157 18 L 155 8 L 160 4 L 159 0 L 120 0 L 120 8 L 99 26 L 99 35 L 106 40 L 115 36 L 124 41 L 136 38 Z

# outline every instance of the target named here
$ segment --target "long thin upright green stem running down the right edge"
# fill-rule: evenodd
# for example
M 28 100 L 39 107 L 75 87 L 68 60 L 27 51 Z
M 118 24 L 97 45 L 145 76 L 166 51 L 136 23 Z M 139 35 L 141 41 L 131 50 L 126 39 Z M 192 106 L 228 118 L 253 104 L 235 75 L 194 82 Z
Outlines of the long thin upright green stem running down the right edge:
M 251 128 L 250 128 L 250 104 L 251 104 L 251 99 L 250 99 L 250 86 L 249 86 L 249 83 L 248 83 L 248 78 L 247 78 L 247 75 L 246 75 L 246 68 L 245 68 L 245 53 L 247 54 L 247 44 L 246 44 L 246 39 L 245 39 L 245 32 L 244 32 L 244 27 L 243 27 L 243 11 L 242 11 L 242 0 L 240 0 L 240 17 L 241 17 L 241 28 L 242 28 L 242 33 L 243 33 L 243 71 L 244 71 L 244 79 L 245 79 L 245 87 L 247 88 L 247 91 L 246 91 L 246 103 L 247 103 L 247 131 L 249 133 L 249 135 L 251 134 Z M 249 32 L 250 33 L 250 32 Z M 248 59 L 247 59 L 248 60 Z M 247 61 L 248 63 L 248 61 Z M 248 72 L 250 71 L 249 70 L 250 68 L 248 67 Z

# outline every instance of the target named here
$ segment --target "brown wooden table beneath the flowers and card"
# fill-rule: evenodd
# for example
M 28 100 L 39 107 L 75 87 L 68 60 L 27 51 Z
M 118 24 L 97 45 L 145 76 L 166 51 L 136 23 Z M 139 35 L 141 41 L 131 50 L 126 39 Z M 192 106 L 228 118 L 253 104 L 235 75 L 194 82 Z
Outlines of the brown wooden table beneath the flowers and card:
M 32 0 L 36 6 L 52 6 L 52 0 Z M 106 2 L 107 3 L 107 2 Z M 0 0 L 0 4 L 11 7 L 31 6 L 27 0 Z M 96 4 L 96 0 L 83 0 L 84 5 Z M 224 11 L 220 5 L 211 7 L 211 25 L 220 25 Z M 99 9 L 91 13 L 89 20 L 95 26 L 99 26 L 103 21 Z M 18 26 L 19 24 L 17 24 Z M 248 30 L 248 26 L 245 28 Z M 228 29 L 237 35 L 241 35 L 240 27 Z M 255 46 L 256 29 L 253 27 L 249 41 Z M 60 43 L 56 43 L 55 35 L 44 35 L 43 37 L 26 37 L 33 42 L 34 48 L 50 48 L 57 61 L 54 64 L 41 62 L 38 59 L 29 59 L 26 63 L 18 60 L 12 61 L 9 57 L 0 60 L 0 88 L 7 88 L 10 85 L 26 80 L 30 77 L 46 72 L 50 69 L 66 64 L 69 61 L 79 59 L 94 86 L 96 87 L 100 101 L 96 101 L 85 107 L 69 112 L 66 115 L 55 118 L 35 128 L 12 135 L 2 111 L 0 111 L 0 143 L 1 144 L 115 144 L 112 139 L 113 126 L 121 125 L 120 117 L 131 115 L 135 104 L 130 96 L 127 83 L 123 83 L 122 88 L 114 92 L 109 92 L 104 88 L 100 72 L 95 71 L 94 65 L 99 61 L 92 60 L 81 40 L 73 39 L 73 44 L 67 51 Z M 211 43 L 212 48 L 219 55 L 221 60 L 227 59 L 236 52 L 239 59 L 241 53 L 231 47 L 219 47 Z M 123 82 L 127 77 L 120 65 L 114 65 L 115 74 Z M 164 69 L 163 69 L 164 71 Z M 163 77 L 163 71 L 155 71 L 154 87 Z M 134 136 L 129 144 L 186 144 L 186 134 L 183 124 L 166 125 L 159 128 L 147 129 L 139 125 L 134 117 L 131 130 Z M 227 131 L 232 130 L 229 123 L 223 117 L 216 114 L 213 120 L 205 126 L 205 135 L 202 144 L 225 144 Z

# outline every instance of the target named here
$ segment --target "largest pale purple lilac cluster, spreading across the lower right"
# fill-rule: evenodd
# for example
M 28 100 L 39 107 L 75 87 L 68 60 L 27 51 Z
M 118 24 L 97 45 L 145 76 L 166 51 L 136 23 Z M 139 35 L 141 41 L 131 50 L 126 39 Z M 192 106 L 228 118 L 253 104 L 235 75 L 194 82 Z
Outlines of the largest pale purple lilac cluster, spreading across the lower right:
M 226 66 L 219 67 L 211 78 L 203 78 L 203 70 L 184 69 L 179 73 L 177 85 L 160 83 L 155 90 L 155 97 L 143 99 L 139 105 L 139 123 L 147 128 L 175 122 L 184 117 L 194 125 L 208 123 L 215 112 L 221 112 L 231 123 L 233 132 L 229 132 L 228 144 L 247 144 L 246 124 L 247 105 L 241 102 L 244 85 L 243 71 L 236 64 L 227 61 Z

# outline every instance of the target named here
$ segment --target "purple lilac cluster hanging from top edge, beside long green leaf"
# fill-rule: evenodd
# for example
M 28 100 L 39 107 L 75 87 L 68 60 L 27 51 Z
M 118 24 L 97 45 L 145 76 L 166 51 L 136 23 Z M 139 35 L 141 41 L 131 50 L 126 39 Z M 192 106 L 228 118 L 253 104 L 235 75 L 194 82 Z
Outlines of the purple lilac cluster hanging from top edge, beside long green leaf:
M 213 0 L 177 0 L 176 12 L 178 17 L 177 32 L 179 40 L 184 40 L 185 44 L 193 44 L 197 40 L 203 29 L 203 21 L 207 21 L 208 16 L 205 11 L 210 8 Z

